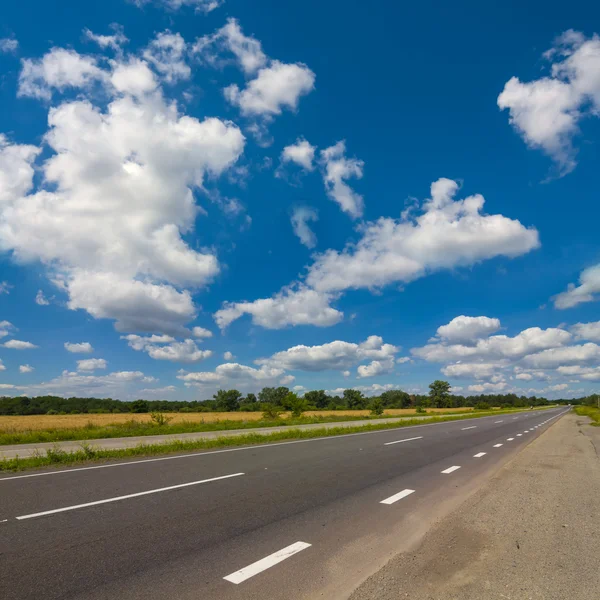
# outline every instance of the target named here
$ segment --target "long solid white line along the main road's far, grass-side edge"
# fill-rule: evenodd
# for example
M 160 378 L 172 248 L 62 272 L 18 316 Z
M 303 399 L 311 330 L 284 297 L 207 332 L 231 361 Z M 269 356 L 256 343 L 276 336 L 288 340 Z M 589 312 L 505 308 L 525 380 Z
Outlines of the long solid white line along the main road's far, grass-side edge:
M 560 416 L 560 415 L 556 415 Z M 491 415 L 487 417 L 475 417 L 477 419 L 492 419 Z M 514 417 L 518 419 L 519 417 Z M 554 417 L 552 417 L 554 418 Z M 465 419 L 456 419 L 456 421 L 461 421 Z M 447 423 L 455 423 L 456 421 L 443 421 L 441 423 L 423 423 L 422 425 L 408 425 L 403 429 L 416 429 L 417 427 L 434 427 L 436 425 L 446 425 Z M 242 446 L 240 448 L 225 448 L 224 450 L 210 450 L 208 452 L 192 452 L 191 454 L 177 454 L 175 456 L 161 456 L 159 458 L 145 458 L 143 460 L 130 460 L 122 463 L 112 463 L 108 465 L 95 465 L 93 467 L 77 467 L 76 469 L 61 469 L 60 471 L 46 471 L 44 473 L 30 473 L 29 475 L 15 475 L 14 477 L 0 477 L 0 483 L 3 481 L 11 481 L 13 479 L 28 479 L 29 477 L 44 477 L 46 475 L 61 475 L 63 473 L 76 473 L 78 471 L 92 471 L 94 469 L 111 469 L 113 467 L 128 467 L 131 465 L 140 465 L 144 463 L 151 462 L 160 462 L 163 460 L 177 460 L 180 458 L 197 458 L 203 456 L 210 456 L 212 454 L 223 454 L 225 452 L 241 452 L 244 450 L 257 450 L 258 448 L 274 448 L 277 446 L 289 446 L 291 444 L 307 444 L 309 442 L 322 442 L 324 440 L 331 439 L 339 439 L 339 438 L 347 438 L 347 437 L 355 437 L 358 435 L 371 435 L 374 433 L 389 433 L 393 428 L 389 429 L 378 429 L 377 431 L 360 431 L 358 433 L 342 433 L 341 435 L 333 435 L 333 436 L 324 436 L 319 438 L 310 438 L 308 440 L 292 440 L 291 442 L 273 442 L 272 444 L 255 444 L 252 446 Z M 252 431 L 249 429 L 248 431 Z M 231 436 L 235 437 L 235 436 Z M 91 440 L 92 442 L 94 440 Z M 0 450 L 2 447 L 0 446 Z M 0 460 L 2 460 L 0 458 Z

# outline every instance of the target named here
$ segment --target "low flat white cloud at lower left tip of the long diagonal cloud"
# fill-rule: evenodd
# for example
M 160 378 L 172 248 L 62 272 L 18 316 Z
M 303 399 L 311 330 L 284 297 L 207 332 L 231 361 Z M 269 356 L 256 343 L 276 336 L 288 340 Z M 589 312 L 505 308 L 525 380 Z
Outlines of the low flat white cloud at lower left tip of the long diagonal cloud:
M 254 302 L 225 302 L 214 314 L 219 328 L 225 329 L 244 314 L 266 329 L 282 329 L 288 325 L 329 327 L 339 323 L 343 313 L 332 308 L 330 294 L 321 294 L 306 286 L 284 288 L 273 298 Z

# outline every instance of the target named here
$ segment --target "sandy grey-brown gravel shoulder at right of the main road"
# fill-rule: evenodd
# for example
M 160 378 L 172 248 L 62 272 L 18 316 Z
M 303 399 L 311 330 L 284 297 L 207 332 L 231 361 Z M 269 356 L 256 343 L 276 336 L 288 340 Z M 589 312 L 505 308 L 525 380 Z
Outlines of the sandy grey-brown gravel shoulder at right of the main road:
M 570 413 L 351 600 L 597 600 L 600 428 Z

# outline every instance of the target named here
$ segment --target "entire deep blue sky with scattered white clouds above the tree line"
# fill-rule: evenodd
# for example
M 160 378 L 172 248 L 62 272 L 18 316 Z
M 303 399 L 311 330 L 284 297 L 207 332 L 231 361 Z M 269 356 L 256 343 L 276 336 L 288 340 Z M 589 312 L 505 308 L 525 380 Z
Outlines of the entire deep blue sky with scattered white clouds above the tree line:
M 397 4 L 3 6 L 0 391 L 597 390 L 600 9 Z

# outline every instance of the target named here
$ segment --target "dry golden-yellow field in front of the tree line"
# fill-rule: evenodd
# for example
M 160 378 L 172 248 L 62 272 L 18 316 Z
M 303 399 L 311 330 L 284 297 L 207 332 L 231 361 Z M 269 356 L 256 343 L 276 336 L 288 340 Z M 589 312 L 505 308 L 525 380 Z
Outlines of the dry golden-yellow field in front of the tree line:
M 453 411 L 469 411 L 473 410 L 469 407 L 460 409 L 456 408 L 428 408 L 427 412 L 445 413 Z M 413 414 L 414 409 L 404 408 L 391 408 L 385 411 L 387 415 L 404 415 Z M 320 411 L 307 411 L 304 413 L 306 416 L 353 416 L 361 417 L 369 415 L 368 410 L 320 410 Z M 186 421 L 188 423 L 213 423 L 215 421 L 258 421 L 262 419 L 261 412 L 238 412 L 238 413 L 169 413 L 172 417 L 171 423 L 181 423 Z M 289 416 L 289 413 L 282 415 L 284 418 Z M 116 425 L 119 423 L 125 423 L 131 420 L 138 421 L 140 423 L 150 421 L 149 414 L 131 414 L 131 413 L 117 413 L 117 414 L 102 414 L 102 415 L 24 415 L 7 417 L 0 416 L 0 432 L 18 432 L 18 431 L 31 431 L 40 429 L 76 429 L 78 427 L 85 427 L 88 423 L 94 425 Z

